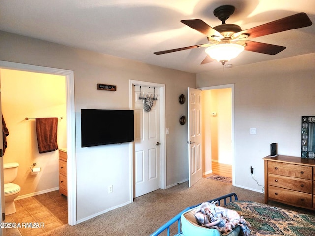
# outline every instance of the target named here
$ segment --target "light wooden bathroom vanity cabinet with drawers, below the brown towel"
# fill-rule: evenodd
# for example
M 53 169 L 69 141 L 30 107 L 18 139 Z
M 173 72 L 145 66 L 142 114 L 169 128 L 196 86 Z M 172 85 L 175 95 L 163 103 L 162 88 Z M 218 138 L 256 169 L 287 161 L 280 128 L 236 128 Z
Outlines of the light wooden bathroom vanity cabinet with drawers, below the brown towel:
M 68 196 L 66 148 L 59 149 L 59 194 Z

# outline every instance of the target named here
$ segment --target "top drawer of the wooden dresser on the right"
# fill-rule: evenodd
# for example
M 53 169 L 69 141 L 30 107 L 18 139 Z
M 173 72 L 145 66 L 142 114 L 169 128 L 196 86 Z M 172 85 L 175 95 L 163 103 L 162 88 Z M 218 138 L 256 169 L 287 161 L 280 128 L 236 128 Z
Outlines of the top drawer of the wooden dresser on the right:
M 304 179 L 312 179 L 312 167 L 268 161 L 268 173 Z

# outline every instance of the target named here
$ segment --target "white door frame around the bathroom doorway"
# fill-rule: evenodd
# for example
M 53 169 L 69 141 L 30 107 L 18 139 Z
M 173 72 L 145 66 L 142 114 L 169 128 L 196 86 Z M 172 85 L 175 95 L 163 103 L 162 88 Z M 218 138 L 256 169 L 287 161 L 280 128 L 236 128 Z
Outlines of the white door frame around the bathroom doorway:
M 41 67 L 41 66 L 32 66 L 32 65 L 26 65 L 26 64 L 19 64 L 19 63 L 13 63 L 13 62 L 6 62 L 6 61 L 0 61 L 0 70 L 1 69 L 13 69 L 13 70 L 19 70 L 19 71 L 32 71 L 32 72 L 38 72 L 38 73 L 43 73 L 43 74 L 54 74 L 54 75 L 59 75 L 63 77 L 63 84 L 65 84 L 65 88 L 63 90 L 63 93 L 65 93 L 65 100 L 66 100 L 66 119 L 64 119 L 64 124 L 66 125 L 66 148 L 68 152 L 68 170 L 70 170 L 70 175 L 68 175 L 68 182 L 72 182 L 71 186 L 68 188 L 68 203 L 66 208 L 68 208 L 68 224 L 70 225 L 75 225 L 76 224 L 76 198 L 75 198 L 75 118 L 74 118 L 74 77 L 73 77 L 73 71 L 67 71 L 67 70 L 60 70 L 60 69 L 54 69 L 54 68 L 47 68 L 47 67 Z M 45 85 L 45 81 L 41 82 L 42 84 Z M 18 86 L 18 84 L 17 84 Z M 4 88 L 4 87 L 3 87 Z M 49 91 L 49 87 L 46 87 L 45 90 Z M 31 92 L 31 91 L 30 91 Z M 12 95 L 12 94 L 11 94 Z M 14 96 L 12 96 L 14 98 Z M 47 104 L 49 105 L 49 104 Z M 36 110 L 34 108 L 34 110 Z M 25 115 L 25 117 L 28 117 L 29 115 Z M 59 115 L 53 115 L 54 117 L 59 116 Z M 39 116 L 36 116 L 39 117 Z M 5 118 L 5 115 L 4 115 Z M 33 118 L 33 117 L 30 117 Z M 23 118 L 22 118 L 23 120 Z M 33 121 L 33 120 L 21 120 L 21 123 L 23 121 L 28 122 L 28 121 Z M 24 123 L 25 123 L 24 122 Z M 32 122 L 34 123 L 34 121 Z M 60 121 L 59 121 L 60 123 Z M 29 123 L 30 126 L 30 123 Z M 32 124 L 31 124 L 32 126 Z M 36 135 L 36 134 L 35 134 Z M 21 135 L 23 136 L 23 135 Z M 23 138 L 23 137 L 21 137 Z M 25 137 L 24 137 L 25 138 Z M 27 138 L 27 137 L 26 137 Z M 49 157 L 43 157 L 46 159 L 49 159 Z M 45 164 L 45 168 L 48 169 L 49 165 L 51 165 L 52 160 L 48 160 L 48 164 Z M 32 163 L 31 163 L 32 164 Z M 30 167 L 28 167 L 30 168 Z M 57 166 L 58 170 L 58 166 Z M 57 177 L 58 178 L 58 177 Z M 57 180 L 58 181 L 58 180 Z M 58 187 L 57 187 L 58 188 Z M 38 190 L 38 189 L 37 189 Z M 42 190 L 34 190 L 33 193 L 40 194 L 44 192 L 41 192 Z M 51 190 L 51 193 L 55 192 L 56 190 L 54 188 L 49 188 Z M 57 190 L 58 192 L 58 190 Z M 31 194 L 32 195 L 32 194 Z M 38 196 L 38 195 L 37 195 Z M 1 198 L 2 198 L 1 194 Z M 25 197 L 27 197 L 25 195 Z M 2 211 L 3 212 L 3 211 Z

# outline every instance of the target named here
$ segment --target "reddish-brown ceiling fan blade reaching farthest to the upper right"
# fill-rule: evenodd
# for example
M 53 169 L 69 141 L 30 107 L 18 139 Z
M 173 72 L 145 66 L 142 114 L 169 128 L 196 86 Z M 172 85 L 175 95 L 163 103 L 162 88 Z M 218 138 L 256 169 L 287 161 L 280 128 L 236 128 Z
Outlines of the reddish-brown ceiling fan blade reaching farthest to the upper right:
M 276 21 L 253 27 L 251 29 L 245 29 L 241 32 L 235 33 L 234 37 L 237 37 L 241 34 L 249 34 L 250 38 L 256 38 L 272 33 L 298 29 L 310 25 L 312 25 L 312 21 L 310 20 L 310 18 L 304 12 L 301 12 Z

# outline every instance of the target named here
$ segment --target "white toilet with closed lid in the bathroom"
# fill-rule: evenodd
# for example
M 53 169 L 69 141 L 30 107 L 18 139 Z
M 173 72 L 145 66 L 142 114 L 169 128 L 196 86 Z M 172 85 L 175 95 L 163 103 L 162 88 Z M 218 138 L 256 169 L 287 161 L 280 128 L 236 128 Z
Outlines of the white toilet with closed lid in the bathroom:
M 14 199 L 19 195 L 21 188 L 12 182 L 18 174 L 18 166 L 17 162 L 3 164 L 5 215 L 13 214 L 16 211 Z

